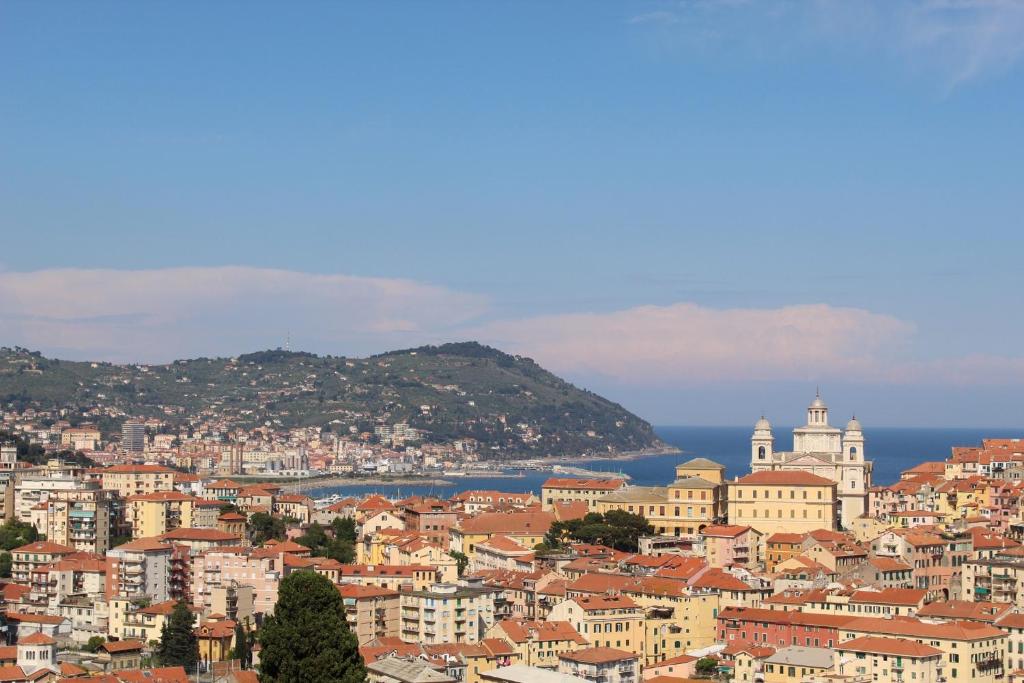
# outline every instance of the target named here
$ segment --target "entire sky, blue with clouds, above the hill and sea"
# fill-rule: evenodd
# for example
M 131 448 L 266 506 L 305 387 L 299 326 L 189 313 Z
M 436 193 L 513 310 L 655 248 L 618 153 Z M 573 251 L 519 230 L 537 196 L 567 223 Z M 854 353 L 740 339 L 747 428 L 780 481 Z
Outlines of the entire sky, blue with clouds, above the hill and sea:
M 1019 425 L 1022 46 L 1011 0 L 7 2 L 0 343 Z

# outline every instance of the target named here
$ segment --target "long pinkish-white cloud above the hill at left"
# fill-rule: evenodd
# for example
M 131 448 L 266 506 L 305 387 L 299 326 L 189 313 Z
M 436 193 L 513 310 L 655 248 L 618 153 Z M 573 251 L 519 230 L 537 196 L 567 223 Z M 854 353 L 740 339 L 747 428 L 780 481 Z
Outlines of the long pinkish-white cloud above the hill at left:
M 0 272 L 3 343 L 169 360 L 283 346 L 366 353 L 436 341 L 483 297 L 409 280 L 253 267 Z

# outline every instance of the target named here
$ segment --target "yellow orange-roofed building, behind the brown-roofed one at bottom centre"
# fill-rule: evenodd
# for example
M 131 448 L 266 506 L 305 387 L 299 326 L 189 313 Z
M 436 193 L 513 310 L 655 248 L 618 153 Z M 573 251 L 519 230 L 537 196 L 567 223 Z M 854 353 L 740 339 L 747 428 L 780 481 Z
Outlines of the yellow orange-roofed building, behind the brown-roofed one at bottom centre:
M 587 595 L 551 608 L 549 622 L 568 622 L 593 647 L 644 656 L 644 609 L 625 595 Z

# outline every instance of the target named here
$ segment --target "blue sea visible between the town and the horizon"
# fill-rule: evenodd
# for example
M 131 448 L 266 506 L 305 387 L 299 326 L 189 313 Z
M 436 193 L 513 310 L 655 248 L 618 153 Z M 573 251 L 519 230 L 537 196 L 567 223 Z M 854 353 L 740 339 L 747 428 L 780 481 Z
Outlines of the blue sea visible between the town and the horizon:
M 775 427 L 775 445 L 792 447 L 792 427 Z M 643 486 L 664 486 L 675 478 L 675 467 L 691 458 L 708 458 L 725 466 L 726 477 L 742 476 L 750 472 L 751 427 L 654 427 L 666 443 L 681 453 L 647 456 L 633 460 L 586 460 L 566 464 L 600 472 L 623 472 L 630 475 L 630 482 Z M 890 484 L 899 479 L 899 473 L 926 460 L 945 460 L 954 445 L 981 445 L 983 438 L 1016 438 L 1024 436 L 1021 429 L 974 428 L 902 428 L 876 427 L 864 431 L 864 455 L 874 463 L 872 482 Z M 551 472 L 515 470 L 510 468 L 504 477 L 451 477 L 451 485 L 334 485 L 308 489 L 313 498 L 333 494 L 362 497 L 381 494 L 387 498 L 406 496 L 431 496 L 446 499 L 467 489 L 490 489 L 510 493 L 541 493 L 541 484 Z

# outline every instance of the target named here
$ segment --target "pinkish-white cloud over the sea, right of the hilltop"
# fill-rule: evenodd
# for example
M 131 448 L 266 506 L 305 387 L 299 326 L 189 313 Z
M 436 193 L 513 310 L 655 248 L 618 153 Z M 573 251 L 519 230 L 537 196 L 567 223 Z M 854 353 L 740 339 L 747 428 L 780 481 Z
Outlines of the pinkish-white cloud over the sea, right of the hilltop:
M 876 378 L 912 327 L 823 304 L 714 309 L 679 303 L 499 322 L 476 332 L 561 372 L 664 384 Z

